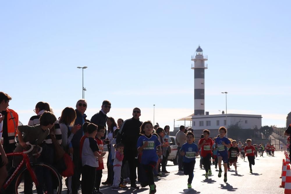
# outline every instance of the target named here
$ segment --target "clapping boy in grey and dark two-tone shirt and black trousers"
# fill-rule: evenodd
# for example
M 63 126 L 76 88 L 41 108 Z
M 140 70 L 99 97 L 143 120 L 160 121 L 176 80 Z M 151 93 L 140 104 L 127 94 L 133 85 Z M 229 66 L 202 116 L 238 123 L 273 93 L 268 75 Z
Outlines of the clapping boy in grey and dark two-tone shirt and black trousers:
M 92 193 L 95 184 L 96 167 L 98 167 L 97 157 L 103 157 L 106 152 L 98 153 L 99 148 L 95 136 L 97 134 L 97 125 L 88 124 L 88 137 L 84 140 L 82 147 L 82 194 Z

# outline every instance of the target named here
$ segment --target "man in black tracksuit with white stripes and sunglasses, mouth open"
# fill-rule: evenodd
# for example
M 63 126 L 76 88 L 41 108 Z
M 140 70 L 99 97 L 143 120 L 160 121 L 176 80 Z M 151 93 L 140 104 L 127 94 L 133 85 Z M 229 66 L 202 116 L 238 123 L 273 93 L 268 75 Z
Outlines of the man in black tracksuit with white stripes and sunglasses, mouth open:
M 129 179 L 130 188 L 139 189 L 136 186 L 136 166 L 138 151 L 136 148 L 137 140 L 140 136 L 140 127 L 142 122 L 139 120 L 141 116 L 141 109 L 134 108 L 132 112 L 132 118 L 123 122 L 120 130 L 117 134 L 116 143 L 123 143 L 124 145 L 124 158 L 122 164 L 128 161 L 129 165 Z

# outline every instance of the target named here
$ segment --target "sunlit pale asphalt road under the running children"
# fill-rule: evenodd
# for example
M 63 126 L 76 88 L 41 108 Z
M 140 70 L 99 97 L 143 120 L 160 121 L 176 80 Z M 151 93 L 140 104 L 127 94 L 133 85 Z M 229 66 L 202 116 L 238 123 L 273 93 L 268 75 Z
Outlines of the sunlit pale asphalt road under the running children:
M 170 174 L 163 175 L 162 177 L 155 177 L 155 184 L 157 185 L 157 194 L 179 194 L 179 193 L 284 193 L 284 188 L 279 188 L 281 185 L 281 169 L 282 159 L 284 152 L 276 151 L 275 157 L 269 157 L 264 154 L 264 157 L 255 159 L 253 166 L 253 174 L 249 173 L 249 163 L 239 158 L 237 171 L 235 174 L 234 167 L 228 170 L 228 181 L 223 182 L 222 177 L 218 178 L 218 170 L 212 168 L 212 176 L 205 178 L 205 170 L 199 168 L 199 160 L 196 159 L 194 169 L 194 179 L 192 182 L 192 189 L 187 188 L 188 176 L 183 173 L 178 173 L 178 166 L 173 165 L 173 162 L 168 162 L 167 171 Z M 105 159 L 107 156 L 104 156 Z M 106 160 L 104 161 L 106 163 Z M 107 178 L 107 169 L 103 170 L 102 182 Z M 139 184 L 138 184 L 139 185 Z M 128 185 L 130 186 L 130 185 Z M 112 191 L 109 186 L 101 186 L 102 193 L 149 193 L 149 188 L 140 188 L 139 190 L 131 190 L 125 188 L 122 191 Z M 66 186 L 63 179 L 63 192 L 66 193 Z M 81 193 L 81 190 L 79 191 Z

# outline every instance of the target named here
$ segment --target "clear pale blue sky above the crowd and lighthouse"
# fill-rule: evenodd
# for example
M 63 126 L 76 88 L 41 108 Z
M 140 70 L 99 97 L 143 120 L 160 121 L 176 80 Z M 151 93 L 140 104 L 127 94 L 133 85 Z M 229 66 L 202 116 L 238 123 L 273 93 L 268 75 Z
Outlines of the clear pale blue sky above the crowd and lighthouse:
M 289 1 L 2 1 L 1 91 L 26 124 L 39 101 L 56 116 L 81 98 L 88 118 L 104 99 L 109 116 L 173 126 L 194 112 L 191 55 L 208 55 L 205 111 L 262 115 L 285 126 L 291 111 Z M 182 122 L 183 123 L 183 122 Z M 176 123 L 177 124 L 177 123 Z M 178 123 L 179 124 L 179 123 Z

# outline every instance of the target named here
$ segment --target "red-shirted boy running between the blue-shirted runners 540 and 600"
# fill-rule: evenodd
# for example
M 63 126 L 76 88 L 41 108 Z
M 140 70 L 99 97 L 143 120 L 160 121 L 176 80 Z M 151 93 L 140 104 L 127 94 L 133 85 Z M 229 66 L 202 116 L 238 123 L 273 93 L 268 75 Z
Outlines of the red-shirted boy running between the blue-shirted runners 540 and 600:
M 199 140 L 198 149 L 201 148 L 201 156 L 203 157 L 204 168 L 206 171 L 205 177 L 208 178 L 208 175 L 212 175 L 210 158 L 212 157 L 213 141 L 208 138 L 210 135 L 210 131 L 208 129 L 203 131 L 203 135 L 204 138 Z

